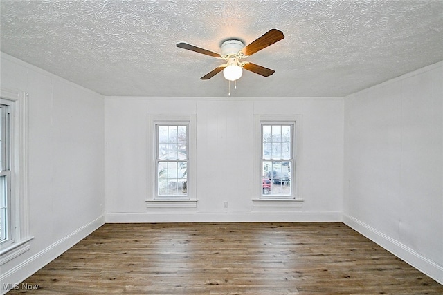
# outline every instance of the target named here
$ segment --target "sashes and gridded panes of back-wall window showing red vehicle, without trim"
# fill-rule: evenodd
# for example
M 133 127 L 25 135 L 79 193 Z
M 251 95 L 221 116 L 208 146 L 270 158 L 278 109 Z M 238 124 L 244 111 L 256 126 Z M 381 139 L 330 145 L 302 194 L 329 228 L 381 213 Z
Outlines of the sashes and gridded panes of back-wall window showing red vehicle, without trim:
M 262 198 L 293 196 L 293 133 L 293 123 L 261 124 Z

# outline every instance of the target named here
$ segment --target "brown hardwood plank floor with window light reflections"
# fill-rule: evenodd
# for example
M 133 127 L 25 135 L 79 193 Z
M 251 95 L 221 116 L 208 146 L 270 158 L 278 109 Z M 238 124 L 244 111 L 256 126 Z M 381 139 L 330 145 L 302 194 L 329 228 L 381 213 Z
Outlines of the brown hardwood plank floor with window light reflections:
M 443 294 L 343 223 L 106 224 L 24 284 L 10 294 Z

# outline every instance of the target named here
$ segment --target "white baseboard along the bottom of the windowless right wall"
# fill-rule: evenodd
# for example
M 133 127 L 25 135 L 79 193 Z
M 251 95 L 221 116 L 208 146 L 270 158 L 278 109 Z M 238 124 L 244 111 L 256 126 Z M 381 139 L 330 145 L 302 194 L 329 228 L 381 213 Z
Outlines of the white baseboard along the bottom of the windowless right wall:
M 343 215 L 343 223 L 443 285 L 443 267 L 441 265 L 356 218 Z

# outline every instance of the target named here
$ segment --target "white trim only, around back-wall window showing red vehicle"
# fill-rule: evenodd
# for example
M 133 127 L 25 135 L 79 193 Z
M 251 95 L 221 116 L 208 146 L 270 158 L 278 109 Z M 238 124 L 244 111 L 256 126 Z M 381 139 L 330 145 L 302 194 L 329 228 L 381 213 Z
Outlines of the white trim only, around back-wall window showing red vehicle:
M 262 124 L 294 124 L 293 128 L 293 187 L 292 196 L 262 195 Z M 253 207 L 302 207 L 302 115 L 254 115 L 254 175 L 253 175 Z M 295 173 L 295 175 L 294 175 Z

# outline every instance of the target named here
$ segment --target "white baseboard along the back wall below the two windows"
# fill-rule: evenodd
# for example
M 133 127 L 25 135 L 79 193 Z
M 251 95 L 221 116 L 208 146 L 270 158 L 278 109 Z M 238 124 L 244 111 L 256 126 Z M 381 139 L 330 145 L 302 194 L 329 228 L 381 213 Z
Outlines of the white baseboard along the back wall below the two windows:
M 342 212 L 107 213 L 107 223 L 129 222 L 341 222 Z

